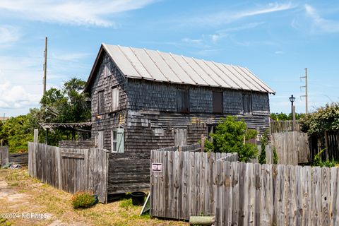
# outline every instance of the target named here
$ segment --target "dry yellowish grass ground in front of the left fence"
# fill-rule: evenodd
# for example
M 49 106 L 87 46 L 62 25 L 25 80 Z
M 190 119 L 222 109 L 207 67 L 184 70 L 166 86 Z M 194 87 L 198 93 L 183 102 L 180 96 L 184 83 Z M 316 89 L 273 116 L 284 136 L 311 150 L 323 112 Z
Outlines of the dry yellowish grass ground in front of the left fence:
M 149 215 L 139 217 L 141 207 L 131 205 L 131 199 L 75 210 L 71 194 L 30 178 L 27 169 L 0 169 L 0 182 L 3 187 L 7 184 L 0 192 L 0 213 L 49 214 L 44 220 L 0 218 L 0 225 L 188 225 Z

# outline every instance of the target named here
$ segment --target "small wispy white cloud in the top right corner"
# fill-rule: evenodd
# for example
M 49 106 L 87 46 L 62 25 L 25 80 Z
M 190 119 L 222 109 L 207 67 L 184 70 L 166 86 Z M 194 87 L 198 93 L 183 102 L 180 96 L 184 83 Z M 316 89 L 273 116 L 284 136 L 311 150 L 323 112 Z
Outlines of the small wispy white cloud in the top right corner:
M 316 9 L 309 4 L 305 4 L 305 11 L 316 28 L 328 33 L 339 32 L 339 21 L 322 18 Z

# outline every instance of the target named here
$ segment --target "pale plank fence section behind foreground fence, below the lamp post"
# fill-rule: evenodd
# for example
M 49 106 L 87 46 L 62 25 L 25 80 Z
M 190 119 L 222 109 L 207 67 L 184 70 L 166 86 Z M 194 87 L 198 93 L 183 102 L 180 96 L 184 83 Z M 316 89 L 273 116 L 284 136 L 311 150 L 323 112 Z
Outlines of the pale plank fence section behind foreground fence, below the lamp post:
M 297 131 L 272 133 L 272 141 L 278 153 L 278 164 L 298 165 L 310 162 L 307 133 Z

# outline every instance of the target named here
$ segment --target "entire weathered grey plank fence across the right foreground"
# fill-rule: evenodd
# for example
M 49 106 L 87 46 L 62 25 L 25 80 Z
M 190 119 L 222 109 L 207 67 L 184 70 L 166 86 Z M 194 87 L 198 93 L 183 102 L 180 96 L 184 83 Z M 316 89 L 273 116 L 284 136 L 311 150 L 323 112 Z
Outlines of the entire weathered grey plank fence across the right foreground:
M 161 163 L 162 170 L 151 172 L 150 215 L 215 215 L 215 225 L 339 225 L 338 167 L 220 157 L 153 150 L 151 162 Z

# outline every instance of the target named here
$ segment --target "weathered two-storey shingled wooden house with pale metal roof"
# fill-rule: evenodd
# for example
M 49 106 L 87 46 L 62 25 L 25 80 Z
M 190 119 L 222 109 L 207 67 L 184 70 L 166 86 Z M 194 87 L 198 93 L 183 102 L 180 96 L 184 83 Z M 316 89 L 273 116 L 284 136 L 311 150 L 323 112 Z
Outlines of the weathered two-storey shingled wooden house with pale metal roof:
M 104 148 L 118 153 L 196 143 L 227 115 L 262 133 L 275 93 L 242 66 L 108 44 L 85 92 L 93 138 L 104 131 Z

